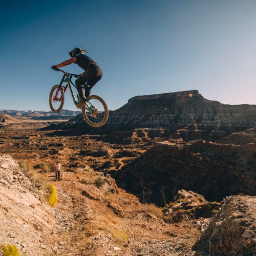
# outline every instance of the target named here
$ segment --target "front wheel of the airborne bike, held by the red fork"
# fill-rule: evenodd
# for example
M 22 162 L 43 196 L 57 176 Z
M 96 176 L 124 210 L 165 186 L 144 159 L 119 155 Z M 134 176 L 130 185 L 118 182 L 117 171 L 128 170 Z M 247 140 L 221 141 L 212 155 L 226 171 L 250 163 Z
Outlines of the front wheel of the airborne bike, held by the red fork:
M 64 104 L 64 92 L 62 88 L 59 88 L 58 84 L 56 86 L 53 86 L 50 96 L 49 96 L 49 105 L 54 113 L 59 113 Z

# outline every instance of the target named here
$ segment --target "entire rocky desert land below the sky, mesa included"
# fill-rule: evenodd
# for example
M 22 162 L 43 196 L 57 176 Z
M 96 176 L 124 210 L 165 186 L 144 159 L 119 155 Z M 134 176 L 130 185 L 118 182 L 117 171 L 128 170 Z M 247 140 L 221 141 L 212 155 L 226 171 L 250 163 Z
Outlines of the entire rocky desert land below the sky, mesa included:
M 202 109 L 198 95 L 184 114 L 181 106 L 191 103 L 186 94 L 172 103 L 182 118 L 159 112 L 159 125 L 141 116 L 151 127 L 123 119 L 134 101 L 149 108 L 144 96 L 110 113 L 102 130 L 92 131 L 79 114 L 43 125 L 33 120 L 34 127 L 5 114 L 1 243 L 25 255 L 254 255 L 254 105 L 242 106 L 246 119 L 240 106 L 234 113 L 203 100 L 208 109 Z M 150 99 L 162 97 L 174 98 Z M 55 181 L 58 160 L 61 180 Z

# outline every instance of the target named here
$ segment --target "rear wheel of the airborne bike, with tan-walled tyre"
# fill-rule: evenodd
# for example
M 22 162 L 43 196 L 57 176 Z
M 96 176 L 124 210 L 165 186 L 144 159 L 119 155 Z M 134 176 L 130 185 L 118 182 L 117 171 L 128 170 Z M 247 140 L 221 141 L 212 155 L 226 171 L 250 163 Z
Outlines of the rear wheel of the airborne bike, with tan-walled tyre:
M 91 95 L 86 98 L 86 105 L 82 107 L 82 116 L 89 125 L 100 127 L 109 118 L 108 106 L 101 97 Z

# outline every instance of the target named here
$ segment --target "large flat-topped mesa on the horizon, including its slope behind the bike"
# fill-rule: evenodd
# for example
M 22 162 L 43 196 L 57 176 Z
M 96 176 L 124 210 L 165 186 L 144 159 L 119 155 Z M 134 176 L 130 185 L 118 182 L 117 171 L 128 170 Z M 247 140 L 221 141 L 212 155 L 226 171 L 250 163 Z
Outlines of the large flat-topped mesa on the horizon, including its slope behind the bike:
M 54 129 L 106 134 L 162 127 L 170 132 L 178 130 L 178 136 L 188 141 L 218 139 L 254 126 L 256 105 L 222 104 L 207 100 L 194 90 L 133 97 L 120 109 L 110 111 L 108 122 L 100 129 L 89 127 L 80 115 Z

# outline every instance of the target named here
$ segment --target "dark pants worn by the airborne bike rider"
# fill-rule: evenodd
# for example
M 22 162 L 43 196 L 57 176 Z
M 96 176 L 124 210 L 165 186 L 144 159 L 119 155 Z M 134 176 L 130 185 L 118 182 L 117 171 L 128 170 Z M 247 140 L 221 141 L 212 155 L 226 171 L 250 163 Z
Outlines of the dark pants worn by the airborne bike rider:
M 76 89 L 77 89 L 80 99 L 83 99 L 83 100 L 85 99 L 84 90 L 82 88 L 82 85 L 84 83 L 87 83 L 88 90 L 90 92 L 90 90 L 93 88 L 93 86 L 95 86 L 95 84 L 101 79 L 102 75 L 103 75 L 103 72 L 98 65 L 91 65 L 87 71 L 83 72 L 76 79 L 75 84 L 76 84 Z M 88 92 L 86 92 L 86 94 L 88 94 Z M 88 95 L 86 95 L 86 96 L 88 96 Z

